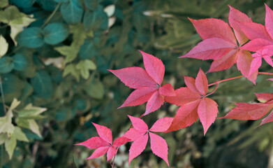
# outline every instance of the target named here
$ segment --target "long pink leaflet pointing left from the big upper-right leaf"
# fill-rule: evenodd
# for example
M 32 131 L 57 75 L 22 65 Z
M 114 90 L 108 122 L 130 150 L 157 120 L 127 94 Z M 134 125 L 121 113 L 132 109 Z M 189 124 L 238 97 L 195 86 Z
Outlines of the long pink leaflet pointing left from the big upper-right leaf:
M 221 38 L 209 38 L 201 41 L 186 55 L 181 57 L 191 57 L 196 59 L 221 59 L 236 47 L 233 43 Z

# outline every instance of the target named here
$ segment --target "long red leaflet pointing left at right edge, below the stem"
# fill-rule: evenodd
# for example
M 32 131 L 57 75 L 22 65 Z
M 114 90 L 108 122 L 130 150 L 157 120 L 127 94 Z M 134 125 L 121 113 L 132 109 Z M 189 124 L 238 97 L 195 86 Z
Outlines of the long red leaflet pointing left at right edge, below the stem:
M 237 120 L 258 120 L 265 116 L 273 107 L 273 104 L 249 104 L 235 103 L 236 107 L 232 109 L 223 118 L 232 118 Z

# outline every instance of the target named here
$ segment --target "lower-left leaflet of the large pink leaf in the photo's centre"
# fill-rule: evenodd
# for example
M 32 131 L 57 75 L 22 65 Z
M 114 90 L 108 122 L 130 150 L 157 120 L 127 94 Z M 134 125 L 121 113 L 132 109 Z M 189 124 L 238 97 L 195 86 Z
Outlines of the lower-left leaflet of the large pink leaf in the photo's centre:
M 156 90 L 156 87 L 141 87 L 137 90 L 134 90 L 127 97 L 124 104 L 122 104 L 118 109 L 126 106 L 138 106 L 140 104 L 144 104 L 152 97 Z

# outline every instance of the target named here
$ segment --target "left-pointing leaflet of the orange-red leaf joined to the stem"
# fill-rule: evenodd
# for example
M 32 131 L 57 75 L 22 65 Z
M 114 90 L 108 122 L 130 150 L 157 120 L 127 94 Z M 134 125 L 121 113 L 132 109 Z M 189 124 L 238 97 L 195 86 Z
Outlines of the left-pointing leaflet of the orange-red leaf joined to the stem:
M 165 97 L 165 102 L 169 102 L 170 104 L 175 104 L 177 106 L 182 106 L 184 104 L 194 102 L 195 100 L 198 100 L 202 97 L 200 94 L 189 90 L 188 87 L 180 87 L 179 89 L 175 90 L 175 94 L 175 97 Z

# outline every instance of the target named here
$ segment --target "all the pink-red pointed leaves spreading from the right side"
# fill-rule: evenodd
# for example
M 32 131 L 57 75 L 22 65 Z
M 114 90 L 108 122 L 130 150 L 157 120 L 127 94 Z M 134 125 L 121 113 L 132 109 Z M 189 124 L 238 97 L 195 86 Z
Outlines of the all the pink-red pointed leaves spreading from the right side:
M 237 69 L 245 78 L 256 83 L 258 69 L 262 58 L 273 66 L 273 10 L 267 5 L 265 26 L 252 22 L 246 14 L 230 6 L 229 23 L 214 18 L 205 20 L 191 20 L 193 26 L 202 37 L 191 51 L 182 57 L 195 59 L 213 59 L 208 72 L 222 71 L 237 64 Z M 231 29 L 232 27 L 233 29 Z M 233 33 L 234 31 L 234 33 Z M 237 45 L 237 42 L 239 45 Z M 123 136 L 112 143 L 112 132 L 104 126 L 96 125 L 99 137 L 92 137 L 77 145 L 96 149 L 87 159 L 98 158 L 107 153 L 110 160 L 116 155 L 119 146 L 133 141 L 129 150 L 129 164 L 147 146 L 150 137 L 152 152 L 168 163 L 168 145 L 162 137 L 153 132 L 172 132 L 192 125 L 198 118 L 206 134 L 210 125 L 217 117 L 218 108 L 214 100 L 207 98 L 207 76 L 199 70 L 196 78 L 184 76 L 186 87 L 174 90 L 172 85 L 161 86 L 165 73 L 165 66 L 161 59 L 140 51 L 145 69 L 141 67 L 128 67 L 118 70 L 109 70 L 114 73 L 126 86 L 135 89 L 119 108 L 138 106 L 147 102 L 146 116 L 158 110 L 163 102 L 180 106 L 175 118 L 161 118 L 148 129 L 147 124 L 140 118 L 128 116 L 132 126 Z M 251 52 L 253 52 L 251 54 Z M 217 87 L 217 86 L 216 86 Z M 215 90 L 214 90 L 215 91 Z M 259 93 L 256 97 L 260 103 L 236 103 L 223 118 L 238 120 L 258 120 L 263 118 L 273 108 L 273 94 Z M 273 121 L 273 111 L 263 119 L 261 125 Z

